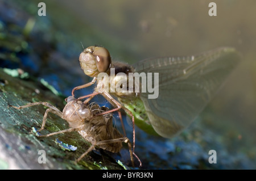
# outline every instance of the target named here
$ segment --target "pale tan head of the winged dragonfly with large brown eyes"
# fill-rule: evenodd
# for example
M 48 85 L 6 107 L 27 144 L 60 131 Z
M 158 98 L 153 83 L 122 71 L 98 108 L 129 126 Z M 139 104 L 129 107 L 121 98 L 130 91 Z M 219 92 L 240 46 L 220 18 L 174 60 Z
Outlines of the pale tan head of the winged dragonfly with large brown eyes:
M 107 73 L 111 66 L 110 53 L 103 47 L 87 47 L 79 57 L 80 66 L 84 73 L 90 77 L 96 77 L 99 73 Z

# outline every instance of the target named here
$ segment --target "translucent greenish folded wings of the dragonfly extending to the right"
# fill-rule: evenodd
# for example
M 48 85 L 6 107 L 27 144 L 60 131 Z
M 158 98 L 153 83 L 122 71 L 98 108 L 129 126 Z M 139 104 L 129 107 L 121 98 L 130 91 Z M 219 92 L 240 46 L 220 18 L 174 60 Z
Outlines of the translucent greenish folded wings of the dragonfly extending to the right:
M 159 95 L 141 93 L 150 123 L 163 137 L 186 128 L 207 105 L 240 60 L 233 48 L 218 48 L 196 56 L 162 57 L 134 64 L 135 72 L 159 73 Z

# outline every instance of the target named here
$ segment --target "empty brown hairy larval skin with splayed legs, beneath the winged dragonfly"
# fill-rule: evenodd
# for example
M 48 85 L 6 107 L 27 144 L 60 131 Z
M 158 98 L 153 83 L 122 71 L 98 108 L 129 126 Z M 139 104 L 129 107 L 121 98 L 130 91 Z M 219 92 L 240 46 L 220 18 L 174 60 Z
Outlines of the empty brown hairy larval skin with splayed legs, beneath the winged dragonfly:
M 133 152 L 131 150 L 131 142 L 129 138 L 123 137 L 123 135 L 113 127 L 112 114 L 99 115 L 101 112 L 108 111 L 109 109 L 107 107 L 100 107 L 96 103 L 87 105 L 80 100 L 75 99 L 73 96 L 67 98 L 67 104 L 64 107 L 63 112 L 47 102 L 36 102 L 29 103 L 25 106 L 10 107 L 20 110 L 40 104 L 48 107 L 48 109 L 44 114 L 42 127 L 39 129 L 39 132 L 44 129 L 49 112 L 55 113 L 62 119 L 68 121 L 71 128 L 45 135 L 40 134 L 39 137 L 48 137 L 55 134 L 77 131 L 86 141 L 89 141 L 92 144 L 84 154 L 77 158 L 77 162 L 96 147 L 113 153 L 118 153 L 122 148 L 122 142 L 126 142 L 129 146 L 131 163 L 134 166 Z

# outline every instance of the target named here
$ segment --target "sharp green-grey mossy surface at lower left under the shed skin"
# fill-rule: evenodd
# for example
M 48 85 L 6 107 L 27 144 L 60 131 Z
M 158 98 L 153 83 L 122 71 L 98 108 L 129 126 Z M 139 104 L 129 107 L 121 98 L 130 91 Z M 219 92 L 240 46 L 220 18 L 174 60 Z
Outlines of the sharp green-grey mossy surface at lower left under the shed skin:
M 40 128 L 46 108 L 34 106 L 23 110 L 16 110 L 13 106 L 23 106 L 36 101 L 47 101 L 60 110 L 64 107 L 64 98 L 56 96 L 40 82 L 30 79 L 23 80 L 11 77 L 0 70 L 0 140 L 1 140 L 1 168 L 2 169 L 101 169 L 96 163 L 102 161 L 102 167 L 108 169 L 122 169 L 118 163 L 106 155 L 90 153 L 78 164 L 76 158 L 89 148 L 90 144 L 76 133 L 58 134 L 56 136 L 39 138 L 32 132 L 32 128 Z M 36 91 L 35 91 L 36 90 Z M 68 123 L 60 117 L 49 114 L 46 128 L 41 134 L 52 133 L 67 129 Z M 56 138 L 63 143 L 77 147 L 77 150 L 63 150 L 56 142 Z M 46 151 L 46 163 L 39 163 L 39 150 Z M 102 157 L 102 158 L 101 158 Z

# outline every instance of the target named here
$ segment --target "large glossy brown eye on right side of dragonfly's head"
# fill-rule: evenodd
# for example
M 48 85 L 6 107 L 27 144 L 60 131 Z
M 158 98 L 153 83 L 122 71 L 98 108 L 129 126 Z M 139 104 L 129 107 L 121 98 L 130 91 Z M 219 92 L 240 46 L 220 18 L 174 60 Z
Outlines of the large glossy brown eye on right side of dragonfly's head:
M 106 48 L 95 47 L 94 56 L 96 58 L 96 65 L 98 72 L 106 72 L 111 66 L 111 57 L 110 53 Z

